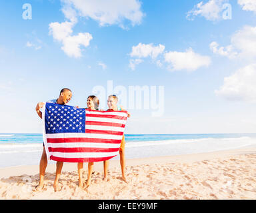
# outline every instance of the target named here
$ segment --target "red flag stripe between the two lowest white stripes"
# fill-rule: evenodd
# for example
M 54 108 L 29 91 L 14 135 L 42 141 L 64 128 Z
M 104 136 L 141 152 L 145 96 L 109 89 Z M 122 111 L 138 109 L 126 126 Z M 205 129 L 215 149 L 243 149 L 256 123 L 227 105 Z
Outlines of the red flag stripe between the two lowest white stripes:
M 75 147 L 75 148 L 63 148 L 63 147 L 49 147 L 49 152 L 117 152 L 119 148 L 91 148 L 91 147 Z

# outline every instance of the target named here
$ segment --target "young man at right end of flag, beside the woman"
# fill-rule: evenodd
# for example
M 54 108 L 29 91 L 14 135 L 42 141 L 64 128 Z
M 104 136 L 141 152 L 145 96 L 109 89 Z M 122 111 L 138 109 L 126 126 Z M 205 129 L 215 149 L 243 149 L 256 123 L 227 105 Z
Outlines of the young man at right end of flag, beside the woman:
M 108 110 L 125 110 L 123 107 L 117 106 L 118 98 L 116 95 L 109 95 L 109 98 L 107 99 L 107 107 L 109 107 Z M 128 118 L 131 116 L 131 114 L 128 112 Z M 120 149 L 120 165 L 121 165 L 121 172 L 122 172 L 122 179 L 125 182 L 128 182 L 125 175 L 125 134 L 123 134 L 123 138 L 121 141 Z M 107 181 L 108 176 L 108 167 L 109 167 L 109 160 L 105 160 L 104 162 L 104 178 L 103 180 Z

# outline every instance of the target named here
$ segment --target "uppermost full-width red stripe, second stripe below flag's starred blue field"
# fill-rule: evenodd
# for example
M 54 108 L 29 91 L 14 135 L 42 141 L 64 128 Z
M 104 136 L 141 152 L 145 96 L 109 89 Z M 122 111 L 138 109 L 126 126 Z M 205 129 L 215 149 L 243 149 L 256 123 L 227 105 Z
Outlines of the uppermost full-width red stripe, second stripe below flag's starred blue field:
M 116 139 L 101 139 L 101 138 L 47 138 L 47 142 L 60 143 L 60 142 L 104 142 L 109 144 L 119 144 L 120 140 Z

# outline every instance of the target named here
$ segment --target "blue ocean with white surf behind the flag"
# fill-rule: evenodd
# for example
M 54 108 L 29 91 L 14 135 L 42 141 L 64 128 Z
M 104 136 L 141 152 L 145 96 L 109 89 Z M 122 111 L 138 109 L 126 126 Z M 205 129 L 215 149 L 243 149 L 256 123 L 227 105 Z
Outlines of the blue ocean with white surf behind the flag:
M 256 146 L 256 134 L 125 134 L 125 142 L 126 158 L 145 158 Z M 0 134 L 0 168 L 37 165 L 42 150 L 42 134 Z

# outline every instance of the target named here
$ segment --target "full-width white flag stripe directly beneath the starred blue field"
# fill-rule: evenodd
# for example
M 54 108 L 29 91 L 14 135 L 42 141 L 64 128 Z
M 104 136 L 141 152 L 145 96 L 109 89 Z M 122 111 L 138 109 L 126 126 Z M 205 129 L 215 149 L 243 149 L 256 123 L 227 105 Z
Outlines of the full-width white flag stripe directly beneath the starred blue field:
M 46 134 L 47 138 L 101 138 L 101 139 L 113 139 L 121 140 L 123 135 L 115 134 L 94 134 L 94 133 L 55 133 Z

